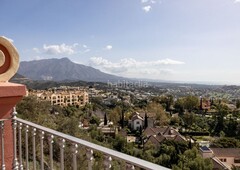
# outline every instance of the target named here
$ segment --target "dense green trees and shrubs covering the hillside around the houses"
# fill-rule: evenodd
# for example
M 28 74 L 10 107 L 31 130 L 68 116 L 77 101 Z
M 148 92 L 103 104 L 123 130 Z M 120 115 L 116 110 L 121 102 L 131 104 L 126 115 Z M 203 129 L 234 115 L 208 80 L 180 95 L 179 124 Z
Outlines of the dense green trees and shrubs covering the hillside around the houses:
M 104 136 L 97 129 L 100 120 L 98 117 L 92 116 L 92 111 L 104 111 L 114 125 L 123 126 L 126 132 L 130 131 L 126 122 L 131 113 L 144 111 L 156 118 L 157 126 L 178 127 L 194 140 L 197 140 L 196 134 L 208 134 L 208 137 L 214 137 L 212 138 L 213 147 L 240 147 L 240 123 L 237 121 L 237 118 L 240 118 L 239 112 L 230 111 L 223 102 L 215 102 L 211 105 L 211 109 L 216 110 L 211 117 L 205 116 L 206 112 L 199 108 L 199 100 L 195 96 L 178 98 L 176 101 L 170 95 L 153 97 L 149 100 L 139 100 L 132 96 L 131 102 L 133 105 L 117 100 L 111 100 L 110 103 L 106 104 L 100 97 L 96 97 L 91 100 L 91 104 L 76 108 L 73 106 L 51 106 L 47 101 L 40 101 L 29 96 L 17 105 L 17 111 L 18 117 L 25 120 L 176 170 L 210 170 L 212 163 L 209 159 L 203 159 L 199 155 L 197 144 L 167 141 L 156 147 L 147 144 L 127 143 L 125 137 L 120 134 L 115 137 Z M 172 117 L 171 115 L 174 113 L 179 113 L 179 116 Z M 125 118 L 124 121 L 122 117 Z M 79 128 L 79 122 L 83 121 L 89 122 L 90 128 L 88 130 Z M 138 135 L 141 136 L 141 132 L 138 132 Z M 71 154 L 70 149 L 66 150 L 66 154 Z M 85 154 L 85 151 L 82 151 L 81 154 Z M 97 167 L 98 163 L 103 160 L 103 155 L 95 153 L 94 156 Z M 55 161 L 59 161 L 58 159 L 56 157 Z M 84 162 L 84 160 L 82 161 Z M 114 169 L 119 169 L 122 166 L 121 162 L 113 164 Z

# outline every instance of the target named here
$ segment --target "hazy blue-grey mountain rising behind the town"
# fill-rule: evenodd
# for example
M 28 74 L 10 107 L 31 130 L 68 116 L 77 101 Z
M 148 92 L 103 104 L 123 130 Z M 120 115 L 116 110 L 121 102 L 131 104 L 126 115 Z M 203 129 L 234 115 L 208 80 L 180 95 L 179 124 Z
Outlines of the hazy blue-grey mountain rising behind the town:
M 68 58 L 22 61 L 18 73 L 32 80 L 116 82 L 124 79 L 73 63 Z

